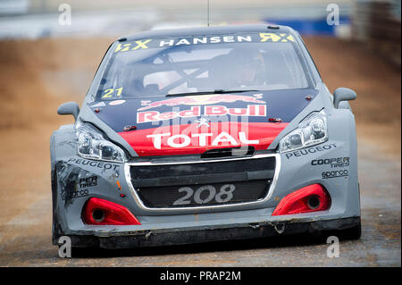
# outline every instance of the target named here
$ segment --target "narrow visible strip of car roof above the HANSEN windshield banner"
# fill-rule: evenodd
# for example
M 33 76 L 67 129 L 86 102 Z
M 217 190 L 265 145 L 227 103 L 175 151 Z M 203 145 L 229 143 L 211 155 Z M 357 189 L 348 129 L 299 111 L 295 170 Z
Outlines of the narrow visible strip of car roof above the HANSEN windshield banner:
M 128 36 L 119 38 L 119 41 L 136 40 L 141 38 L 166 38 L 166 37 L 194 37 L 208 36 L 217 34 L 233 34 L 237 32 L 288 32 L 295 33 L 294 29 L 288 26 L 272 25 L 272 24 L 247 24 L 247 25 L 228 25 L 200 28 L 184 28 L 184 29 L 154 29 L 142 31 Z

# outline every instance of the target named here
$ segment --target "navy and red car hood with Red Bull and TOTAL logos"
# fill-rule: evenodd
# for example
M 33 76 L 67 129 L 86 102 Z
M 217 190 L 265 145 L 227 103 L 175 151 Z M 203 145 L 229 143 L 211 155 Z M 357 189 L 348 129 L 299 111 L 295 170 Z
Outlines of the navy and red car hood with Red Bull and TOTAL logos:
M 122 98 L 88 107 L 140 156 L 195 155 L 223 147 L 267 149 L 317 93 L 304 88 Z

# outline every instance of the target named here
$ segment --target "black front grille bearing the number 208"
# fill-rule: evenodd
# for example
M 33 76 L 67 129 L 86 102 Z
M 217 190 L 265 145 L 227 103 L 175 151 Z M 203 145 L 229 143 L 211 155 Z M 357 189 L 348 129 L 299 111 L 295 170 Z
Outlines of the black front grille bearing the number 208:
M 264 199 L 275 156 L 200 163 L 135 164 L 131 183 L 148 208 L 232 205 Z

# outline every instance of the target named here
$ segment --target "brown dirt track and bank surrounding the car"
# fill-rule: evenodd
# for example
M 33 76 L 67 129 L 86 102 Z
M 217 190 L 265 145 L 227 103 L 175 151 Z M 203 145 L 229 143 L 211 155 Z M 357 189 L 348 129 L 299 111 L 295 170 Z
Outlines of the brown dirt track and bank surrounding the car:
M 307 38 L 333 91 L 356 90 L 363 233 L 328 258 L 322 240 L 214 243 L 58 257 L 51 244 L 49 138 L 71 117 L 65 101 L 81 103 L 111 39 L 0 42 L 1 266 L 400 266 L 400 70 L 364 46 Z M 5 156 L 5 157 L 4 157 Z M 73 252 L 74 256 L 74 252 Z M 107 258 L 105 258 L 107 257 Z

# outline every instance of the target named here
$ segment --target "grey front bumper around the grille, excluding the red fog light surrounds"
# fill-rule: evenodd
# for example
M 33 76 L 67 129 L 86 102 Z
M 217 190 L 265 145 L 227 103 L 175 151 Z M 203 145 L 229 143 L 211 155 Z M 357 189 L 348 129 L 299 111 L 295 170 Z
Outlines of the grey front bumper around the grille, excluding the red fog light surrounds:
M 277 164 L 269 194 L 263 200 L 241 205 L 150 209 L 141 205 L 136 197 L 128 177 L 127 164 L 82 159 L 75 155 L 75 148 L 71 147 L 71 151 L 54 161 L 53 243 L 56 245 L 58 239 L 65 235 L 71 237 L 75 247 L 148 247 L 342 230 L 358 223 L 360 203 L 356 152 L 350 149 L 350 144 L 334 141 L 306 150 L 273 155 L 280 163 Z M 333 157 L 348 157 L 349 163 L 334 165 L 333 168 L 328 164 L 312 163 L 316 160 L 331 161 Z M 348 176 L 323 175 L 340 169 L 347 170 Z M 330 209 L 272 216 L 283 197 L 314 183 L 328 190 L 331 195 Z M 85 224 L 81 214 L 90 197 L 125 206 L 141 225 Z

